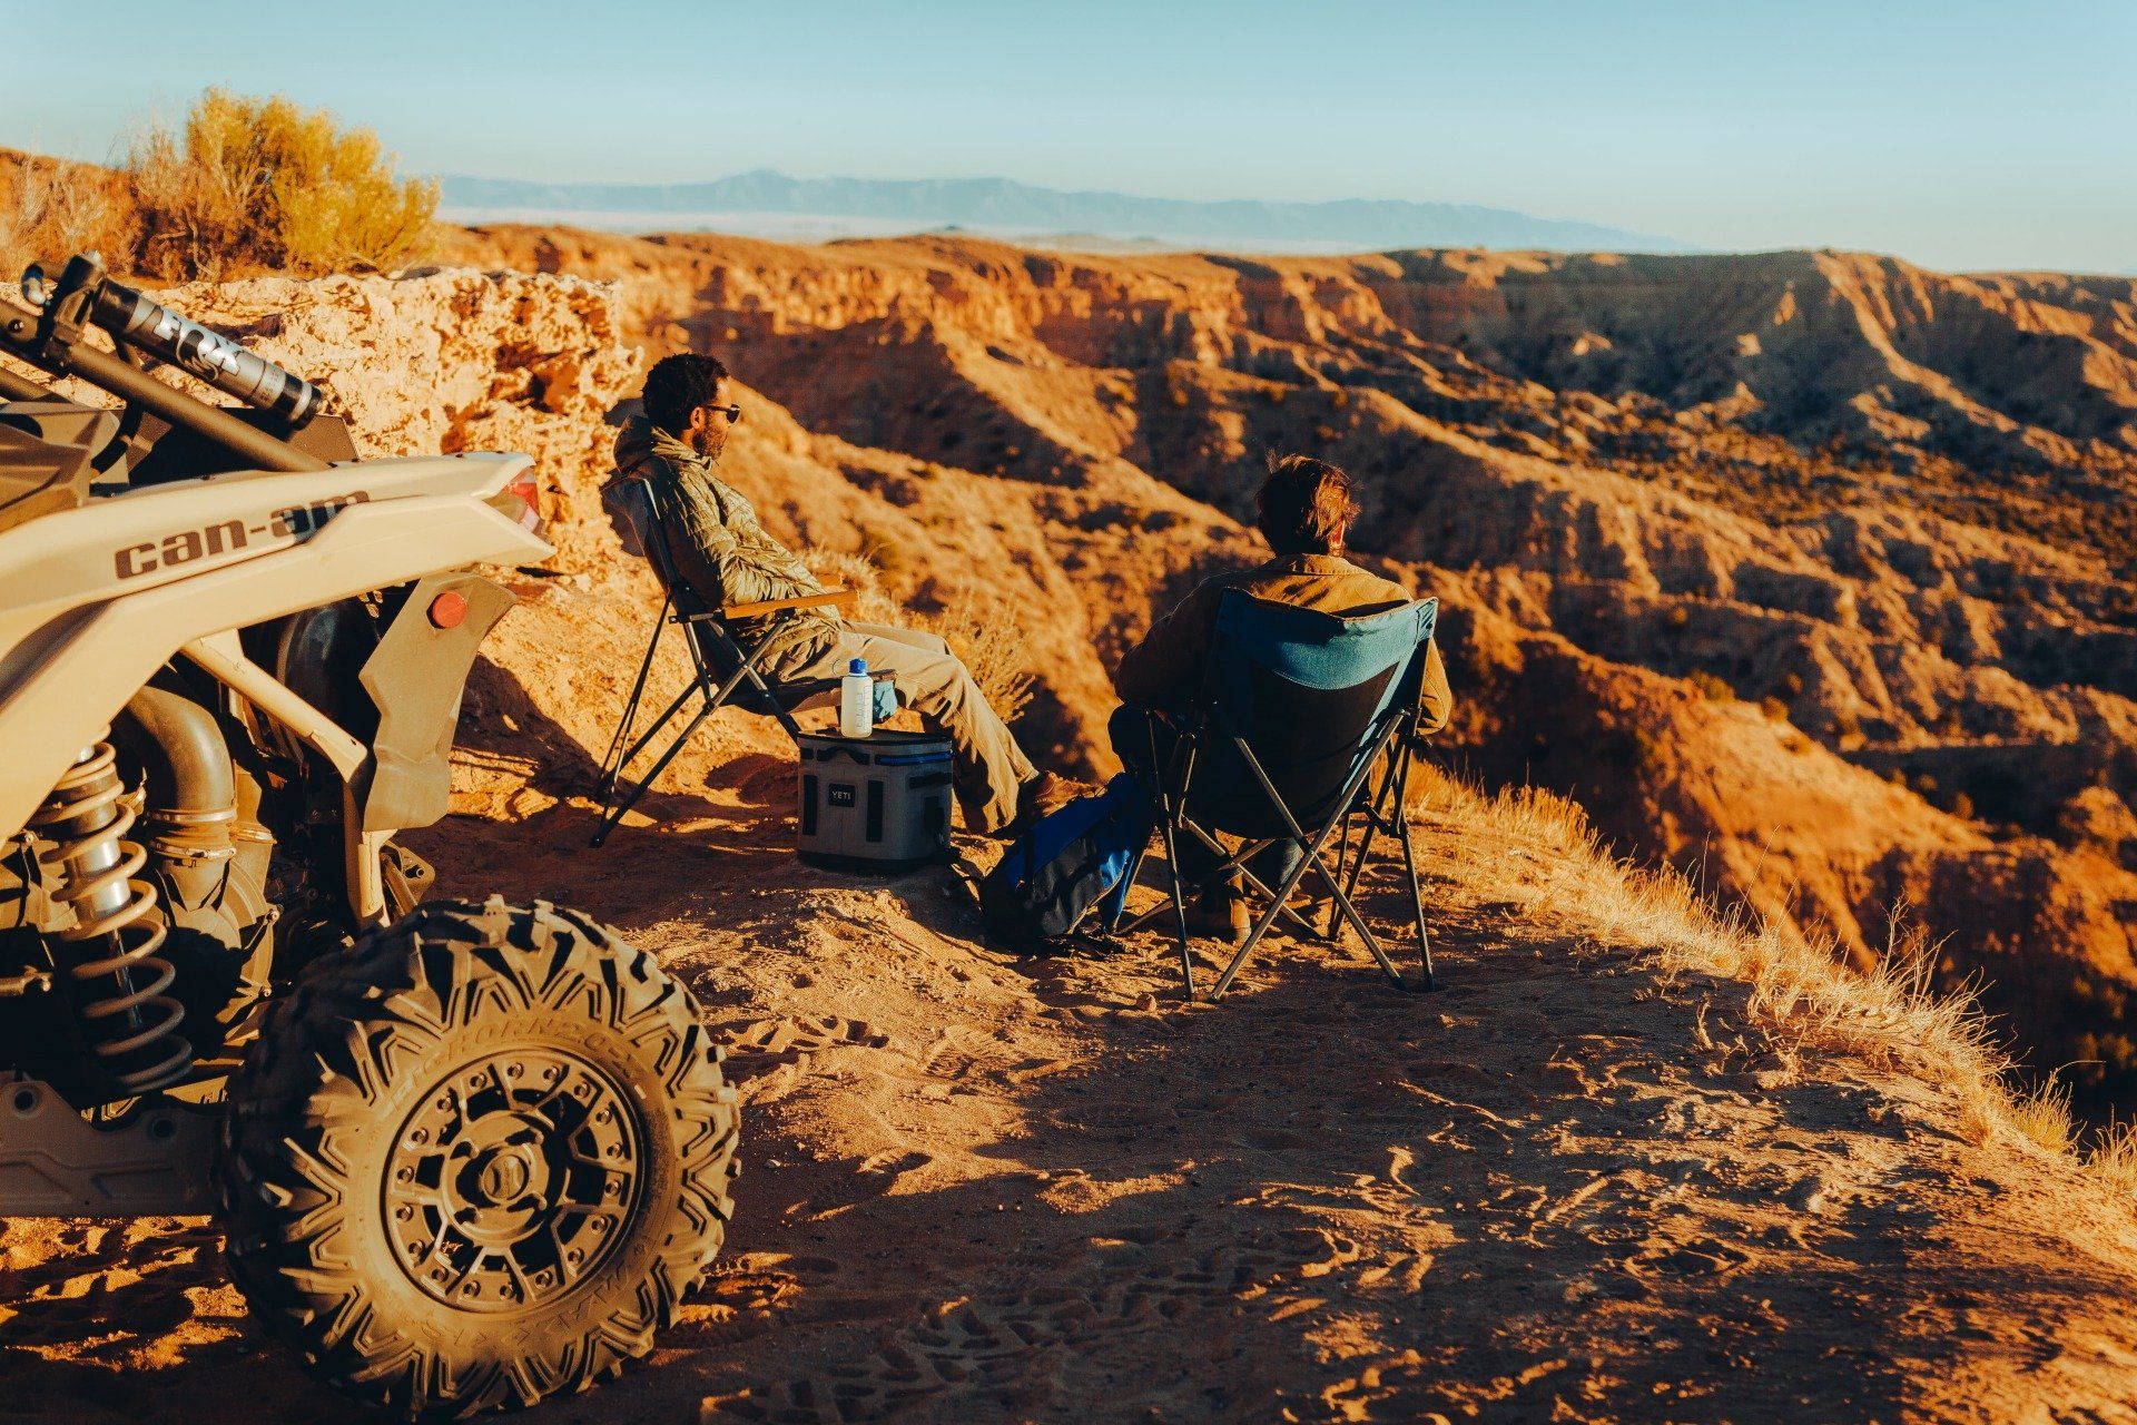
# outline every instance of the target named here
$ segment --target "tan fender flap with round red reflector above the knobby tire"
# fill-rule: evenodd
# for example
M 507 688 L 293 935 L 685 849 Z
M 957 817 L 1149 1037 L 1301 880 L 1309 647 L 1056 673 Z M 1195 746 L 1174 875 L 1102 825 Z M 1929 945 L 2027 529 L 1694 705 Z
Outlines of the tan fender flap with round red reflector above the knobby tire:
M 363 829 L 427 827 L 453 803 L 453 729 L 474 652 L 517 602 L 470 573 L 417 581 L 357 682 L 378 707 Z

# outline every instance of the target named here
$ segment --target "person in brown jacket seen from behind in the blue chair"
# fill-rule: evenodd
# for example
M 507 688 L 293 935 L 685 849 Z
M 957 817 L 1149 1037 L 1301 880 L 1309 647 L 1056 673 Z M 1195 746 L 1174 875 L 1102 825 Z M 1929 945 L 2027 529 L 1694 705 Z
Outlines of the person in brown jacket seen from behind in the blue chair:
M 1111 722 L 1113 752 L 1137 776 L 1150 776 L 1154 714 L 1163 756 L 1169 746 L 1163 714 L 1188 707 L 1201 690 L 1203 660 L 1216 632 L 1216 609 L 1229 590 L 1340 617 L 1366 617 L 1410 602 L 1410 592 L 1400 583 L 1366 573 L 1344 558 L 1357 502 L 1351 498 L 1351 476 L 1336 466 L 1306 455 L 1272 459 L 1269 479 L 1261 483 L 1254 502 L 1257 523 L 1276 558 L 1199 583 L 1177 609 L 1150 626 L 1113 673 L 1113 690 L 1122 699 Z M 1438 643 L 1425 645 L 1417 711 L 1419 733 L 1440 731 L 1453 711 Z M 1291 846 L 1272 846 L 1263 852 L 1265 859 L 1254 863 L 1254 876 L 1274 887 L 1291 870 L 1295 855 Z M 1218 863 L 1201 842 L 1182 842 L 1180 861 L 1182 880 L 1199 880 Z M 1248 910 L 1231 887 L 1218 887 L 1190 906 L 1188 923 L 1205 934 L 1244 940 Z

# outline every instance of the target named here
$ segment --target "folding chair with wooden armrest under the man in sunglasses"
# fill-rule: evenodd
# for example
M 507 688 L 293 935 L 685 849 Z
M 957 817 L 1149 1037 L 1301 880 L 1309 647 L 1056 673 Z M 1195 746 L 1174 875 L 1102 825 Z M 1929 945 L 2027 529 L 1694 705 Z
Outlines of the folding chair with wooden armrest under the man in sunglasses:
M 656 538 L 641 538 L 645 555 L 654 564 L 654 575 L 660 579 L 665 598 L 660 600 L 660 617 L 654 620 L 654 635 L 645 643 L 645 658 L 639 660 L 639 675 L 630 684 L 630 699 L 624 703 L 624 716 L 615 724 L 615 737 L 609 739 L 609 750 L 600 758 L 600 820 L 594 825 L 594 846 L 609 840 L 609 831 L 637 805 L 639 797 L 660 780 L 667 765 L 675 761 L 690 735 L 722 707 L 742 707 L 746 711 L 765 714 L 778 718 L 780 726 L 795 741 L 801 739 L 801 726 L 795 722 L 795 711 L 806 703 L 823 696 L 836 696 L 840 679 L 836 677 L 806 677 L 791 682 L 774 682 L 761 667 L 765 645 L 759 641 L 754 647 L 744 647 L 735 637 L 731 624 L 733 620 L 763 617 L 765 613 L 780 613 L 786 609 L 846 609 L 853 607 L 853 590 L 825 590 L 823 594 L 804 594 L 799 598 L 765 598 L 744 605 L 722 605 L 718 609 L 705 607 L 688 581 L 675 577 L 673 562 L 669 558 L 667 545 L 667 521 L 660 515 L 658 504 L 652 504 L 652 534 Z M 643 534 L 643 532 L 641 532 Z M 645 679 L 652 675 L 654 654 L 660 652 L 660 635 L 669 626 L 680 626 L 684 630 L 684 645 L 690 649 L 690 684 L 675 694 L 675 701 L 667 705 L 652 724 L 633 739 L 633 726 L 637 724 L 639 703 L 645 696 Z M 673 741 L 654 758 L 654 765 L 643 778 L 630 780 L 624 771 L 635 763 L 665 729 L 669 729 L 675 718 L 682 716 L 684 707 L 697 699 L 701 707 L 675 733 Z M 883 722 L 898 711 L 898 688 L 887 675 L 876 677 L 876 720 Z

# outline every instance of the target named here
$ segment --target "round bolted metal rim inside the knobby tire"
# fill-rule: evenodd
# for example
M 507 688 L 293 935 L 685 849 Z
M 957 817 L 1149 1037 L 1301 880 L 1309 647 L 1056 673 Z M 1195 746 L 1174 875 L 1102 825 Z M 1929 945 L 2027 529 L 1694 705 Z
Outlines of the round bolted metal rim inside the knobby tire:
M 564 1049 L 496 1053 L 434 1083 L 387 1158 L 393 1254 L 464 1312 L 524 1312 L 620 1248 L 639 1205 L 630 1098 Z

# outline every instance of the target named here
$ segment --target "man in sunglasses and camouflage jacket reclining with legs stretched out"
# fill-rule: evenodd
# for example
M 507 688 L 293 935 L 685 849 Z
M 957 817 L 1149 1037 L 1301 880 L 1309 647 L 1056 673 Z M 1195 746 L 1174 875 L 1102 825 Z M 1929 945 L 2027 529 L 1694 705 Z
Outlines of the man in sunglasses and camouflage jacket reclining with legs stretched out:
M 823 594 L 808 564 L 765 534 L 756 508 L 714 474 L 729 432 L 742 421 L 742 406 L 720 400 L 724 380 L 727 367 L 716 357 L 686 353 L 654 363 L 641 395 L 645 414 L 615 436 L 618 474 L 603 489 L 603 504 L 611 517 L 620 515 L 618 534 L 639 558 L 643 541 L 658 538 L 654 511 L 660 511 L 675 577 L 709 609 Z M 789 609 L 731 628 L 746 647 L 765 645 L 763 669 L 778 682 L 838 677 L 853 658 L 865 658 L 872 673 L 889 673 L 900 701 L 949 735 L 957 803 L 974 831 L 1009 831 L 1066 786 L 1032 767 L 972 673 L 936 635 L 851 624 L 831 609 Z

